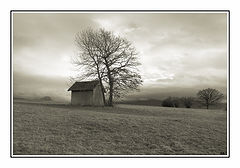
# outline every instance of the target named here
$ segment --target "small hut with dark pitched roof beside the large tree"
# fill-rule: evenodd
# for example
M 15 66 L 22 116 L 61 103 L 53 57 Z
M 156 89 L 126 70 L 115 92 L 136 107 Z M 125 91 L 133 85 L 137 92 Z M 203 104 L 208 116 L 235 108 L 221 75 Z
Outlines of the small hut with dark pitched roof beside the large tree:
M 68 91 L 72 92 L 72 105 L 104 106 L 99 81 L 75 82 Z

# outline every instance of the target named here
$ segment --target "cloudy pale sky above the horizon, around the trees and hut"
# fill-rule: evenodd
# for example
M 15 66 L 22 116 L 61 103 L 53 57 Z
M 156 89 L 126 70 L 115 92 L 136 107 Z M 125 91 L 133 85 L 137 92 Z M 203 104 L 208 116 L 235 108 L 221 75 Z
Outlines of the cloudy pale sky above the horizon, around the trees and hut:
M 76 33 L 104 28 L 132 42 L 143 85 L 129 99 L 227 88 L 226 13 L 14 13 L 13 93 L 70 100 Z

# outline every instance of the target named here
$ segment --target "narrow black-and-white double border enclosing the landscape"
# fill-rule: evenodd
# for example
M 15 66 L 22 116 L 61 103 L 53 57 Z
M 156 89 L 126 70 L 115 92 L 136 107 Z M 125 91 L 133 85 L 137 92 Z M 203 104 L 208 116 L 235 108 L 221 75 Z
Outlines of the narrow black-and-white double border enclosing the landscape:
M 13 10 L 11 11 L 11 138 L 10 138 L 10 149 L 11 157 L 13 158 L 228 158 L 229 153 L 229 116 L 230 116 L 230 86 L 229 86 L 229 64 L 230 64 L 230 22 L 229 22 L 229 12 L 228 10 Z M 193 12 L 195 11 L 195 12 Z M 107 13 L 107 14 L 119 14 L 119 13 L 226 13 L 227 14 L 227 154 L 226 155 L 14 155 L 13 154 L 13 15 L 14 13 Z

